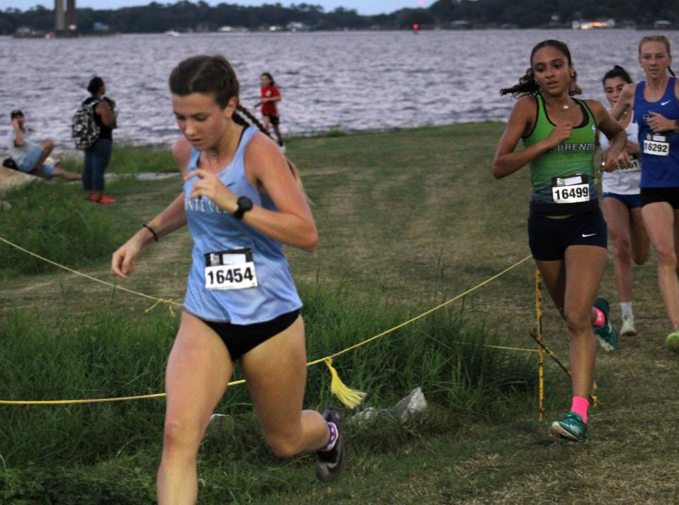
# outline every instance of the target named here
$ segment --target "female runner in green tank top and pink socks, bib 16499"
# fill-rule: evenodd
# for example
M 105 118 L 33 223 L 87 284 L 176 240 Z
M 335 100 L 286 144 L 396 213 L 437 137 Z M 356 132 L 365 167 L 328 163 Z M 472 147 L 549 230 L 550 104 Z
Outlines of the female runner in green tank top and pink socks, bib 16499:
M 608 303 L 594 299 L 606 262 L 606 224 L 593 186 L 595 130 L 610 140 L 601 170 L 617 168 L 624 129 L 595 100 L 581 93 L 568 47 L 545 40 L 530 54 L 530 69 L 501 94 L 515 103 L 493 161 L 503 178 L 530 163 L 530 250 L 549 296 L 566 320 L 573 386 L 571 411 L 554 421 L 552 434 L 587 439 L 587 407 L 596 359 L 595 334 L 606 350 L 617 347 Z M 514 152 L 523 139 L 524 149 Z

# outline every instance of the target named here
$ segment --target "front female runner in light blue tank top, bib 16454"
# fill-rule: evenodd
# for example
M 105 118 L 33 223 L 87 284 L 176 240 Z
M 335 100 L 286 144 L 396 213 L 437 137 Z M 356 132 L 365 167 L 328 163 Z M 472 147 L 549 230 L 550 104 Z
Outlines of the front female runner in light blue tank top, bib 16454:
M 170 75 L 183 138 L 172 146 L 184 190 L 114 254 L 125 278 L 154 240 L 188 224 L 193 264 L 166 371 L 167 407 L 158 473 L 160 505 L 198 499 L 196 456 L 217 402 L 240 361 L 264 434 L 276 455 L 316 451 L 316 476 L 344 463 L 341 416 L 302 410 L 307 356 L 302 302 L 282 243 L 314 250 L 316 226 L 299 175 L 238 103 L 223 57 L 196 56 Z

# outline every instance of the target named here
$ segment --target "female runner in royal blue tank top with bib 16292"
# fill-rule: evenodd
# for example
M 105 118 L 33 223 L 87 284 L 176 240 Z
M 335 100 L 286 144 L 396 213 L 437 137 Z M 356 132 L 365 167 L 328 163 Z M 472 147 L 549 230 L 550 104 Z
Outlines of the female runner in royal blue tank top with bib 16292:
M 679 237 L 675 234 L 679 224 L 679 81 L 671 63 L 666 37 L 641 38 L 639 65 L 646 81 L 625 86 L 611 114 L 620 119 L 632 108 L 634 121 L 639 124 L 641 216 L 656 249 L 658 285 L 672 325 L 667 344 L 674 348 L 679 346 Z

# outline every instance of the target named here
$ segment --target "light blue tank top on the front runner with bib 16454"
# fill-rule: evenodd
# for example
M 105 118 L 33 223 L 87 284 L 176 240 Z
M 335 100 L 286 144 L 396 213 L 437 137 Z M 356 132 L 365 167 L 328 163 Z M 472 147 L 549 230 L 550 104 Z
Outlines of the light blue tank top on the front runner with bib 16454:
M 252 187 L 245 174 L 245 149 L 255 132 L 253 127 L 244 131 L 233 161 L 219 173 L 219 179 L 239 197 L 249 197 L 253 204 L 275 211 L 275 204 Z M 200 151 L 193 149 L 189 172 L 196 170 L 199 157 Z M 188 274 L 184 308 L 198 318 L 234 325 L 263 323 L 300 308 L 302 301 L 280 242 L 219 209 L 209 198 L 190 199 L 196 180 L 198 178 L 190 178 L 184 182 L 184 211 L 193 237 L 193 264 Z M 227 254 L 223 255 L 224 252 Z M 229 265 L 232 260 L 227 257 L 251 260 L 251 273 L 256 275 L 257 285 L 244 289 L 207 289 L 206 272 L 210 282 L 215 279 L 211 272 L 214 267 L 207 270 L 206 267 Z

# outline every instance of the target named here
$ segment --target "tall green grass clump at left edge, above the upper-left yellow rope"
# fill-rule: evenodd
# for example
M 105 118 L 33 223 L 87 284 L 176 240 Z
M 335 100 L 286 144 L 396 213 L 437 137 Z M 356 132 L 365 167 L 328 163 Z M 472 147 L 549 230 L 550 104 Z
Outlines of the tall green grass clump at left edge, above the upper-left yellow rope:
M 6 196 L 11 211 L 0 214 L 1 235 L 21 247 L 69 266 L 110 255 L 122 241 L 111 209 L 86 202 L 79 185 L 33 184 Z M 0 244 L 0 272 L 38 274 L 46 262 Z

